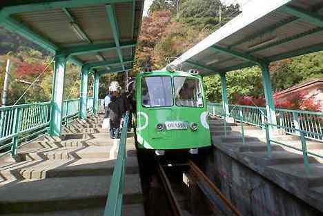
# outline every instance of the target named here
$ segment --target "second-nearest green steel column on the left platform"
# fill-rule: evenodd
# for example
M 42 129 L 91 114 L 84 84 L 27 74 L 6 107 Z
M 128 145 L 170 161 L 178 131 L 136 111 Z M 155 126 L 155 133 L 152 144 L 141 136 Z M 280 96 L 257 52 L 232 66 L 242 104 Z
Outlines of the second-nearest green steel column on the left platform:
M 86 119 L 86 108 L 88 104 L 88 68 L 82 67 L 81 75 L 81 95 L 80 107 L 79 107 L 79 117 L 81 119 Z

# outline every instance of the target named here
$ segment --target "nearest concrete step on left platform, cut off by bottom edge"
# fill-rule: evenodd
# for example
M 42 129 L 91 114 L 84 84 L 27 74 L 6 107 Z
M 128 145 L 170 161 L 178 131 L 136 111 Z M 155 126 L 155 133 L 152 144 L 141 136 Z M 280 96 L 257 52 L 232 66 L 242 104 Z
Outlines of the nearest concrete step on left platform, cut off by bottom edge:
M 45 213 L 27 213 L 27 214 L 9 214 L 6 216 L 102 216 L 104 215 L 104 208 L 86 208 L 78 210 L 57 210 Z M 123 216 L 144 216 L 143 204 L 131 204 L 122 206 Z

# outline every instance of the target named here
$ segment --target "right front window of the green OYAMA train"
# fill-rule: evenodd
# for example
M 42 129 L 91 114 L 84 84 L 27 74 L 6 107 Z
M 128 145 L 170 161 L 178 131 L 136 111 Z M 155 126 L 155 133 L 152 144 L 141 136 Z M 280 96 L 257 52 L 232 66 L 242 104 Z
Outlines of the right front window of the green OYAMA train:
M 174 87 L 177 106 L 203 107 L 202 88 L 199 79 L 174 77 Z

